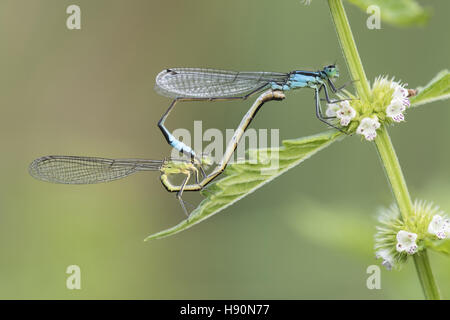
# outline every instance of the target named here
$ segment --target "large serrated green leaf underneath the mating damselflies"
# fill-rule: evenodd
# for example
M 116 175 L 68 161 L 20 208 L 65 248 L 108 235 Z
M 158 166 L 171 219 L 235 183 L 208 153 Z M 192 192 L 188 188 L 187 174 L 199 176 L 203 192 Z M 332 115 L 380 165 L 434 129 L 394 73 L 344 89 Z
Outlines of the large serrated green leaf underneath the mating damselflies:
M 333 130 L 300 139 L 285 140 L 281 148 L 250 150 L 249 159 L 257 159 L 257 163 L 245 161 L 230 164 L 222 173 L 222 179 L 213 182 L 202 191 L 206 198 L 188 219 L 172 228 L 150 235 L 145 240 L 173 235 L 211 217 L 328 147 L 342 136 L 342 133 Z M 278 160 L 278 166 L 273 168 L 273 163 L 268 160 Z

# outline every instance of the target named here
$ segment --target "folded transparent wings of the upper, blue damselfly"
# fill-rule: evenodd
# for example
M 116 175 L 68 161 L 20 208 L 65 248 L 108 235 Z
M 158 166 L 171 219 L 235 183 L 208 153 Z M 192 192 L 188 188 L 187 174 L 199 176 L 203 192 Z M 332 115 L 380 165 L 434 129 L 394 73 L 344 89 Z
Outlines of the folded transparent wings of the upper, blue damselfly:
M 156 76 L 155 89 L 170 98 L 226 98 L 263 90 L 270 82 L 284 83 L 288 77 L 277 72 L 173 68 Z

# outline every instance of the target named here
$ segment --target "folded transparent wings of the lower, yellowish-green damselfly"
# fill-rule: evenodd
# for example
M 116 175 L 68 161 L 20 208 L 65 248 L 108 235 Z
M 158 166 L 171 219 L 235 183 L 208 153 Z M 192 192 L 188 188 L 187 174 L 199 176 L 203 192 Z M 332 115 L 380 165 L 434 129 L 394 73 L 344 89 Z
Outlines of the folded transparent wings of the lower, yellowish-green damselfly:
M 45 156 L 30 164 L 39 180 L 65 184 L 90 184 L 120 179 L 137 171 L 159 170 L 162 160 L 105 159 L 79 156 Z

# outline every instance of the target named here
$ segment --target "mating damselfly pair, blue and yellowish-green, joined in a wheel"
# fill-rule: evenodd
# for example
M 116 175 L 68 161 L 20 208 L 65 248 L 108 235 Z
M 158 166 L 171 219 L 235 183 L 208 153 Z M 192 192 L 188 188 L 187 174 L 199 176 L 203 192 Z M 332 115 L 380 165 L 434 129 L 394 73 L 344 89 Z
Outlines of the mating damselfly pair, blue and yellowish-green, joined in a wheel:
M 176 192 L 183 211 L 187 214 L 182 194 L 184 191 L 199 191 L 222 173 L 230 161 L 245 130 L 259 111 L 261 106 L 271 100 L 283 100 L 284 92 L 299 88 L 314 90 L 315 112 L 319 120 L 340 130 L 331 118 L 323 116 L 320 92 L 323 90 L 327 103 L 342 100 L 331 100 L 329 91 L 337 93 L 343 87 L 336 88 L 333 79 L 339 77 L 335 65 L 329 65 L 319 71 L 277 72 L 235 72 L 198 68 L 166 69 L 156 77 L 156 91 L 173 98 L 158 126 L 167 142 L 176 150 L 189 156 L 190 159 L 106 159 L 84 156 L 45 156 L 34 160 L 30 165 L 30 173 L 37 179 L 63 184 L 91 184 L 108 182 L 126 177 L 139 171 L 159 171 L 160 180 L 170 192 Z M 164 123 L 178 102 L 185 101 L 227 101 L 247 99 L 253 94 L 262 94 L 247 111 L 220 163 L 210 172 L 204 167 L 210 162 L 207 157 L 199 157 L 195 151 L 175 138 Z M 170 177 L 184 175 L 180 185 L 172 184 Z

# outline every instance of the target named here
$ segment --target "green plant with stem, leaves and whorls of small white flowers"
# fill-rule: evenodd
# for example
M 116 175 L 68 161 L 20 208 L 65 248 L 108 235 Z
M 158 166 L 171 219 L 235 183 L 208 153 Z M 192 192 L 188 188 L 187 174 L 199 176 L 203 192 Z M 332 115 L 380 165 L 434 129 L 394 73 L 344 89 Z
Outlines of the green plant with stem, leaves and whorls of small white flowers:
M 306 1 L 305 4 L 310 2 Z M 428 18 L 427 11 L 413 0 L 349 2 L 364 10 L 369 5 L 378 5 L 382 19 L 395 25 L 422 24 Z M 407 89 L 404 83 L 385 75 L 377 76 L 371 85 L 364 72 L 342 0 L 328 0 L 328 5 L 356 92 L 343 91 L 341 98 L 350 100 L 328 105 L 326 114 L 336 116 L 336 123 L 346 134 L 330 130 L 285 140 L 282 147 L 277 149 L 249 150 L 250 158 L 257 159 L 258 163 L 243 161 L 230 164 L 220 180 L 202 191 L 205 199 L 189 218 L 172 228 L 150 235 L 146 240 L 185 230 L 231 206 L 333 142 L 358 134 L 363 141 L 375 143 L 396 202 L 380 215 L 375 235 L 375 254 L 389 270 L 399 269 L 412 258 L 425 297 L 440 299 L 427 250 L 450 255 L 450 220 L 431 203 L 413 203 L 387 128 L 403 122 L 406 112 L 413 107 L 448 99 L 450 74 L 448 70 L 443 70 L 428 84 L 414 90 Z M 277 157 L 278 168 L 270 167 L 267 161 L 270 157 Z

